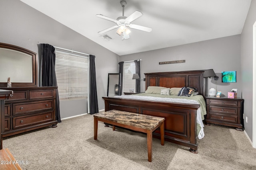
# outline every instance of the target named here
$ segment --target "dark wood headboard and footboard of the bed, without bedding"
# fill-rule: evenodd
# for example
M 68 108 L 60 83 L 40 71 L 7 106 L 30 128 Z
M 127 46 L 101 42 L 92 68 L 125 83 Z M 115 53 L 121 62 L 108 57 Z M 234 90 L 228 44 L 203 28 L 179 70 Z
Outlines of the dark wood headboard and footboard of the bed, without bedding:
M 197 88 L 198 93 L 205 98 L 206 80 L 203 78 L 203 74 L 204 70 L 145 73 L 146 89 L 148 86 L 167 88 L 190 86 Z M 196 111 L 200 107 L 199 104 L 154 102 L 114 97 L 103 97 L 103 99 L 105 111 L 116 109 L 165 117 L 165 141 L 189 147 L 190 152 L 198 153 Z M 160 139 L 160 129 L 154 131 L 153 137 Z

